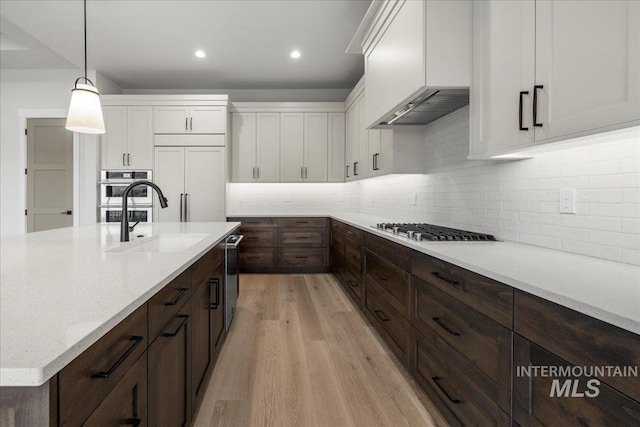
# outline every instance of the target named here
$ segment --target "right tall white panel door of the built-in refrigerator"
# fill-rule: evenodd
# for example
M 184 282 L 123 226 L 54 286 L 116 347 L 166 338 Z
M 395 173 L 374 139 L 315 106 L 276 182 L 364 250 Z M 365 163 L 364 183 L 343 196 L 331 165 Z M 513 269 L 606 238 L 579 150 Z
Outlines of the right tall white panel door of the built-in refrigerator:
M 224 147 L 186 147 L 184 187 L 187 221 L 225 221 Z

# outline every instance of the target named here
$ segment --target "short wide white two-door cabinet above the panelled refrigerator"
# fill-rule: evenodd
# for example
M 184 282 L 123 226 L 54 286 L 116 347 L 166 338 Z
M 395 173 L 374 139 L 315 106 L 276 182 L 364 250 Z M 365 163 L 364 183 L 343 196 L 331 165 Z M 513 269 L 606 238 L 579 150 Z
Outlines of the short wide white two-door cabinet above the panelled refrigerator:
M 154 108 L 156 134 L 224 134 L 227 109 L 221 106 L 158 106 Z

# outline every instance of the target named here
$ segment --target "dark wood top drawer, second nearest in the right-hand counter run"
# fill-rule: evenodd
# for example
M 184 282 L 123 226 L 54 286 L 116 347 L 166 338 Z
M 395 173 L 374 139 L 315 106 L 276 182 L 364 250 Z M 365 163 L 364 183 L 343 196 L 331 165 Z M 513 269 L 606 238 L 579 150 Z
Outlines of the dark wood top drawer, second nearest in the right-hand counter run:
M 411 274 L 511 329 L 511 286 L 415 251 Z

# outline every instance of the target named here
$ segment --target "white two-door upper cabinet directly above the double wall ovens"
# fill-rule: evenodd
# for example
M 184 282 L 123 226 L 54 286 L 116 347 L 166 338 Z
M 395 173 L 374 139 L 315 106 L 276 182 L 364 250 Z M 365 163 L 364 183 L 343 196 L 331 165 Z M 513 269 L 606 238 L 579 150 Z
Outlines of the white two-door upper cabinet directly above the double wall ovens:
M 105 106 L 101 135 L 103 169 L 152 169 L 152 107 Z

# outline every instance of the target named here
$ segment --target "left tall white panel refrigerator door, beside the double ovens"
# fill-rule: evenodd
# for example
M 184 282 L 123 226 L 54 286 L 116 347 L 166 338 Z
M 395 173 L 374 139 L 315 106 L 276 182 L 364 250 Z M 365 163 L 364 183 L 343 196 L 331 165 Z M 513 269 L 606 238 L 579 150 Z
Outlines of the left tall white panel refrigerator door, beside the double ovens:
M 179 222 L 184 202 L 184 147 L 156 147 L 153 181 L 168 199 L 161 209 L 158 197 L 153 196 L 153 220 Z M 152 190 L 153 191 L 153 190 Z

